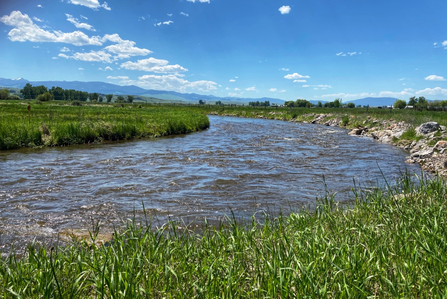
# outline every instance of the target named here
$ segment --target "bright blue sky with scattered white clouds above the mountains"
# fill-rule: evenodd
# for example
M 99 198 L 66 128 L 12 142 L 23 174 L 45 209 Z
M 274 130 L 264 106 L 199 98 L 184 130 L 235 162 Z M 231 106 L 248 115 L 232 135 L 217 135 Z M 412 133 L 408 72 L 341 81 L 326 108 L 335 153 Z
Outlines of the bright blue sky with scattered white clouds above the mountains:
M 443 100 L 446 11 L 441 0 L 1 0 L 0 77 Z

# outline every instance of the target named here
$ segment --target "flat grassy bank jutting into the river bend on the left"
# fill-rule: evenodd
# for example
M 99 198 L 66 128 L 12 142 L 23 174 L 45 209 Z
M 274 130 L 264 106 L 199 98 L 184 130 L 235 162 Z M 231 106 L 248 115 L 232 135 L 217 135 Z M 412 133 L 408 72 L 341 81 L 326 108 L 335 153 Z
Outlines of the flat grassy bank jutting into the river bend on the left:
M 6 101 L 0 105 L 0 149 L 58 146 L 183 134 L 209 127 L 199 111 L 169 106 L 68 106 L 63 102 L 31 104 Z M 140 107 L 140 108 L 139 108 Z

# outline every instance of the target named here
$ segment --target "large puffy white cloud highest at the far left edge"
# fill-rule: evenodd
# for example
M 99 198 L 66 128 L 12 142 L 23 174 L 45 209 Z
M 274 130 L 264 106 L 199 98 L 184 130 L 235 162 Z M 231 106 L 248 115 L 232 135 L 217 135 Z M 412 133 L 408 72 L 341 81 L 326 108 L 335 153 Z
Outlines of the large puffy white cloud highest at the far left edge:
M 62 42 L 76 46 L 102 45 L 100 37 L 89 37 L 80 31 L 63 33 L 55 30 L 53 32 L 43 30 L 34 24 L 27 14 L 22 14 L 20 11 L 13 11 L 9 16 L 2 16 L 0 21 L 5 25 L 15 27 L 8 33 L 8 38 L 11 41 Z

